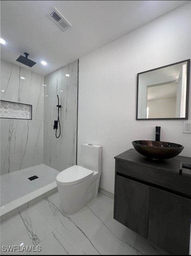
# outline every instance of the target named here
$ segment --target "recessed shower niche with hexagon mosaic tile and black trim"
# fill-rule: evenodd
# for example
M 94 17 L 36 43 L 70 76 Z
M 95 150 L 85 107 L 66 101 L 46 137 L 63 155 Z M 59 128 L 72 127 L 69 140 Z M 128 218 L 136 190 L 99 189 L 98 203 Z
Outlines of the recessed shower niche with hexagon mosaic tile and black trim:
M 32 105 L 1 100 L 0 117 L 32 120 Z

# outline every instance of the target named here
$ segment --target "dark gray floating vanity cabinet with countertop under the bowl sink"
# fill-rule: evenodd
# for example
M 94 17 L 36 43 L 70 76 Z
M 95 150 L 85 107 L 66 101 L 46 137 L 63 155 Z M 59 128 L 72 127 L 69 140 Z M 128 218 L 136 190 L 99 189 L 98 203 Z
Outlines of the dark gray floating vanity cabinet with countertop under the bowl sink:
M 114 219 L 174 255 L 189 255 L 190 157 L 153 160 L 129 149 L 115 157 Z

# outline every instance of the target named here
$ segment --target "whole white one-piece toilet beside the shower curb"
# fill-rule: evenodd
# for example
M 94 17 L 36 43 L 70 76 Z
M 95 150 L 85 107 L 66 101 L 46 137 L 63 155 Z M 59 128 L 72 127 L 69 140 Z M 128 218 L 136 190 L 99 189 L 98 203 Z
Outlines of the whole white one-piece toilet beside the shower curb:
M 81 144 L 81 165 L 69 167 L 57 175 L 56 183 L 64 213 L 78 212 L 97 197 L 101 153 L 102 148 L 99 145 Z

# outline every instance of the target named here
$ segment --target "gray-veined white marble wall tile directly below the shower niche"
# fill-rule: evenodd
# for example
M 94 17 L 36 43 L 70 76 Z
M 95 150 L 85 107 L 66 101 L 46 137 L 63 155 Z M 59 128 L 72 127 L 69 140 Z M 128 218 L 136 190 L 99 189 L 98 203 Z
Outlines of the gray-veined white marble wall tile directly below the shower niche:
M 1 119 L 1 174 L 42 164 L 43 120 Z

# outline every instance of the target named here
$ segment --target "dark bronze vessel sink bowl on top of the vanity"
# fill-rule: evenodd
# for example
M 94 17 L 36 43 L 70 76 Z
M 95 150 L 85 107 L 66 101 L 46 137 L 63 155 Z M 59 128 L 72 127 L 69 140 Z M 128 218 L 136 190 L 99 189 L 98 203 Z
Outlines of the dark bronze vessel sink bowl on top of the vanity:
M 154 140 L 134 140 L 132 145 L 141 155 L 156 160 L 175 157 L 184 149 L 180 144 Z

